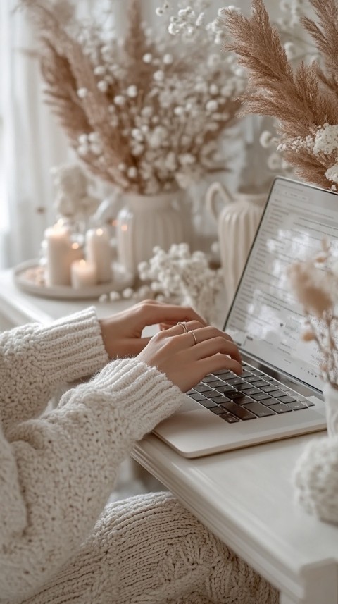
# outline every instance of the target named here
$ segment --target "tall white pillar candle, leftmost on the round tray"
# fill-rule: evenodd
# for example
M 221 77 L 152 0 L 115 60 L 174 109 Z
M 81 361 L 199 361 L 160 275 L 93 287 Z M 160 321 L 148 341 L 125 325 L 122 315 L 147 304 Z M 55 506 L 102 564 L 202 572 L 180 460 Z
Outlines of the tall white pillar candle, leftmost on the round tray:
M 47 228 L 46 240 L 46 283 L 47 285 L 70 285 L 69 230 L 62 221 Z

